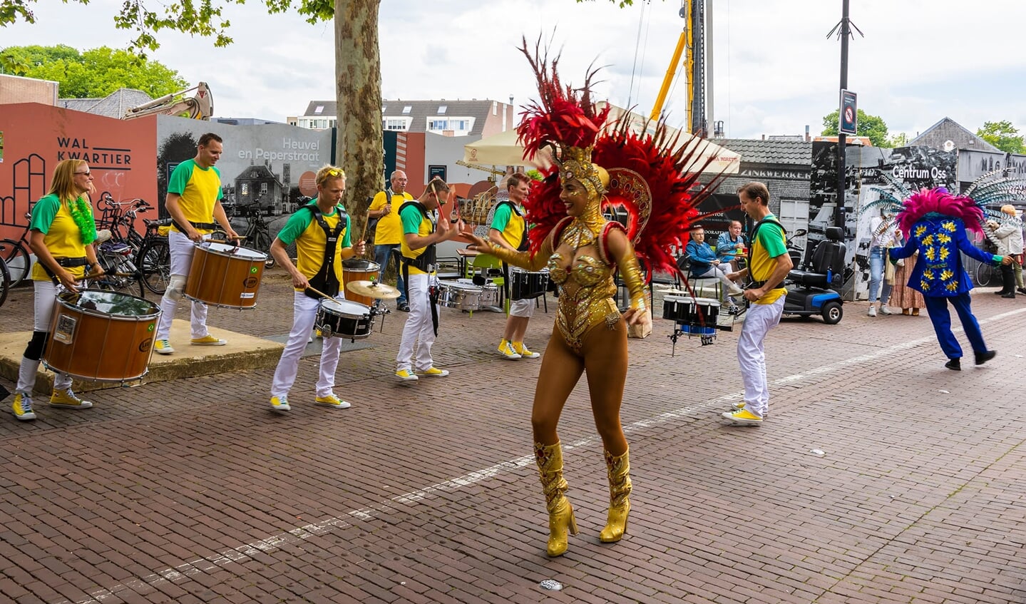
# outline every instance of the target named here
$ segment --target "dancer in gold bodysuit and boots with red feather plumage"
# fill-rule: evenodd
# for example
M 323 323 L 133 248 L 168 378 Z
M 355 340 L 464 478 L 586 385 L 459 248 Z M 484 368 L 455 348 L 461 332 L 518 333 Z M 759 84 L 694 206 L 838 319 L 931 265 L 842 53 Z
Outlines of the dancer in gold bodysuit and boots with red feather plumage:
M 524 157 L 553 147 L 558 174 L 548 170 L 548 177 L 531 188 L 526 201 L 527 219 L 534 225 L 530 250 L 514 252 L 492 245 L 490 253 L 529 271 L 548 266 L 559 290 L 556 329 L 542 360 L 531 428 L 549 513 L 546 551 L 560 556 L 567 549 L 567 531 L 577 534 L 578 526 L 565 494 L 568 484 L 556 429 L 567 397 L 585 372 L 609 483 L 608 516 L 599 538 L 618 541 L 627 530 L 630 461 L 620 420 L 627 379 L 627 325 L 644 327 L 652 322 L 637 258 L 654 270 L 679 273 L 667 250 L 683 245 L 682 237 L 698 213 L 694 207 L 698 199 L 687 191 L 701 170 L 680 176 L 692 156 L 668 151 L 676 140 L 668 137 L 662 122 L 654 135 L 643 138 L 632 134 L 626 121 L 600 136 L 609 110 L 597 111 L 591 102 L 593 74 L 588 74 L 579 97 L 560 84 L 555 61 L 549 64 L 538 48 L 532 57 L 526 41 L 521 50 L 538 76 L 541 96 L 541 104 L 527 109 L 518 127 Z M 616 194 L 607 191 L 614 170 L 619 170 Z M 602 216 L 603 199 L 628 208 L 633 220 L 626 232 Z M 467 236 L 478 246 L 487 245 L 479 237 Z M 614 300 L 614 271 L 620 272 L 630 292 L 630 307 L 622 315 Z

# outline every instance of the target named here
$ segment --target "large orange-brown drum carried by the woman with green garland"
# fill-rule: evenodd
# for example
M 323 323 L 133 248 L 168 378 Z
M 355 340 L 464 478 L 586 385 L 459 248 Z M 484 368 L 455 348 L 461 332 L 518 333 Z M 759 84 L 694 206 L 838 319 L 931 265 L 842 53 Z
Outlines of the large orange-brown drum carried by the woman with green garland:
M 60 294 L 43 364 L 79 379 L 128 381 L 146 375 L 160 309 L 115 291 Z

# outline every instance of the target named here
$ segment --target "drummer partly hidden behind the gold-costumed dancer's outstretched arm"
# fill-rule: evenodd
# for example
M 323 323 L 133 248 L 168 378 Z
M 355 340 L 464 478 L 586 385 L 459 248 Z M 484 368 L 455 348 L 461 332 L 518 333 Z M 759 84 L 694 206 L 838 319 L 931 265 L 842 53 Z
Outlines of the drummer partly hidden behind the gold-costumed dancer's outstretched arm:
M 526 174 L 509 174 L 506 179 L 509 199 L 496 204 L 496 213 L 488 229 L 488 241 L 508 251 L 527 250 L 527 220 L 523 217 L 523 200 L 530 193 L 530 178 Z M 509 286 L 509 272 L 506 283 Z M 499 343 L 499 354 L 507 359 L 537 359 L 541 355 L 527 350 L 523 336 L 527 323 L 535 313 L 535 298 L 511 299 L 510 316 Z

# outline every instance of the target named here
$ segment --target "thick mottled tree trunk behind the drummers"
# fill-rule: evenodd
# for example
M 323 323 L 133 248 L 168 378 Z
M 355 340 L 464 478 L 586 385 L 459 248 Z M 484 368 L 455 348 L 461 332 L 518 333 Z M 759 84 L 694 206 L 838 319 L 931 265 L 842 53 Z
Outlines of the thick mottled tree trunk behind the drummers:
M 353 220 L 354 243 L 366 225 L 367 198 L 385 188 L 380 5 L 381 0 L 334 0 L 336 157 L 346 171 L 345 205 Z

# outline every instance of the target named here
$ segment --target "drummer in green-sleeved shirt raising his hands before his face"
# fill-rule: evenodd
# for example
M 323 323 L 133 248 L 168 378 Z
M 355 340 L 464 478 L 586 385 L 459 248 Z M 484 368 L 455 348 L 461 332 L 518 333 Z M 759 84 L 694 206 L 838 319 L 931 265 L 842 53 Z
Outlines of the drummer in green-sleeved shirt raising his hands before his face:
M 419 375 L 448 375 L 447 370 L 435 367 L 431 359 L 431 347 L 438 334 L 437 298 L 431 295 L 431 291 L 438 287 L 435 245 L 459 235 L 459 225 L 450 225 L 445 212 L 436 210 L 455 199 L 456 191 L 436 176 L 428 183 L 419 198 L 399 207 L 399 217 L 402 220 L 402 277 L 409 303 L 409 317 L 402 328 L 399 354 L 395 358 L 395 374 L 402 380 L 419 379 Z M 434 217 L 436 214 L 437 224 Z

